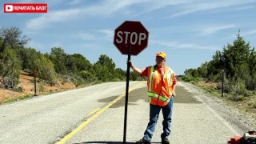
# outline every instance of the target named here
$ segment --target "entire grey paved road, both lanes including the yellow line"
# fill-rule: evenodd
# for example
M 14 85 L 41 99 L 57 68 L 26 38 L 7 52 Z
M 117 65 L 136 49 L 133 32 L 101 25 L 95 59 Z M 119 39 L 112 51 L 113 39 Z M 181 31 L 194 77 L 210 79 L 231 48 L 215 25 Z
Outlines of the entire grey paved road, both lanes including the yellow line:
M 127 143 L 142 138 L 149 119 L 146 82 L 139 84 L 130 82 Z M 0 106 L 0 143 L 122 143 L 125 86 L 110 82 Z M 171 143 L 221 144 L 247 130 L 229 110 L 186 83 L 178 82 L 177 94 Z M 161 133 L 162 114 L 153 143 L 161 142 Z

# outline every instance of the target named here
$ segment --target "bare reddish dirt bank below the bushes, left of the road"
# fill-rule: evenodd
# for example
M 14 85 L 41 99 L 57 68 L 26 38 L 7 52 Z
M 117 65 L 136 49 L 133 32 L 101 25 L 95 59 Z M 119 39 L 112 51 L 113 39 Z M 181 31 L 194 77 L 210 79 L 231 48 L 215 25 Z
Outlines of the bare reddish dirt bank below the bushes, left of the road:
M 0 89 L 0 103 L 11 102 L 18 99 L 28 98 L 34 96 L 34 77 L 29 76 L 26 72 L 20 71 L 20 82 L 18 87 L 21 87 L 22 90 L 5 90 Z M 37 78 L 37 94 L 50 94 L 54 92 L 59 92 L 63 90 L 74 89 L 75 85 L 71 82 L 62 82 L 58 79 L 58 84 L 50 86 L 48 84 L 42 84 L 40 79 Z

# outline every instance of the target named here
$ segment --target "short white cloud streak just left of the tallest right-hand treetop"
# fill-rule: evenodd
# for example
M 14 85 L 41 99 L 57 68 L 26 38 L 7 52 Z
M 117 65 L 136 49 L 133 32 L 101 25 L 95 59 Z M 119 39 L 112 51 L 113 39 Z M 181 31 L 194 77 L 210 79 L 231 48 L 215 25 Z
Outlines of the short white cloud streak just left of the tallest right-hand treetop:
M 206 28 L 202 28 L 201 31 L 201 36 L 209 35 L 209 34 L 215 34 L 220 30 L 226 30 L 226 29 L 231 29 L 235 28 L 236 26 L 233 24 L 230 25 L 221 25 L 221 26 L 207 26 Z

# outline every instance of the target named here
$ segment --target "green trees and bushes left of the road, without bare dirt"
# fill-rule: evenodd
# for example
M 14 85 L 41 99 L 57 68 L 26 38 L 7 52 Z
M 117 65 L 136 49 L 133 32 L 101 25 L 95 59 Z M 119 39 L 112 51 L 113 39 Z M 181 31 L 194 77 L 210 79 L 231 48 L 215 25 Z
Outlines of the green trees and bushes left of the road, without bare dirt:
M 66 54 L 61 47 L 51 48 L 50 53 L 41 53 L 35 48 L 26 47 L 31 39 L 22 36 L 18 27 L 0 29 L 0 87 L 15 89 L 18 86 L 20 71 L 24 70 L 54 86 L 58 79 L 73 82 L 75 86 L 100 82 L 126 81 L 126 70 L 117 68 L 112 58 L 100 55 L 97 62 L 91 63 L 82 54 Z M 134 71 L 130 80 L 144 80 Z

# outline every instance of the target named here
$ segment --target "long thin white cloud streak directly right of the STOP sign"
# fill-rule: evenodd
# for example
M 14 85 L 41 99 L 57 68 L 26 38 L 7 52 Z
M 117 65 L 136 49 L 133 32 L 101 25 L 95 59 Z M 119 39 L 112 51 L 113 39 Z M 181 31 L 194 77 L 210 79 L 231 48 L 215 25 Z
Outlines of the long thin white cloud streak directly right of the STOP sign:
M 150 43 L 167 46 L 171 49 L 199 49 L 199 50 L 217 50 L 217 46 L 199 46 L 194 43 L 184 43 L 184 42 L 165 42 L 165 41 L 158 41 L 152 40 Z

